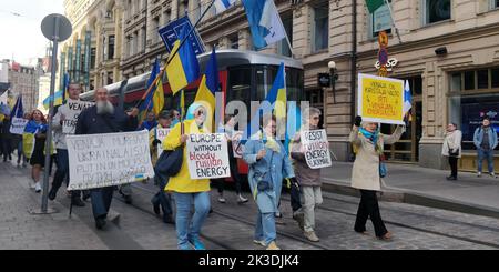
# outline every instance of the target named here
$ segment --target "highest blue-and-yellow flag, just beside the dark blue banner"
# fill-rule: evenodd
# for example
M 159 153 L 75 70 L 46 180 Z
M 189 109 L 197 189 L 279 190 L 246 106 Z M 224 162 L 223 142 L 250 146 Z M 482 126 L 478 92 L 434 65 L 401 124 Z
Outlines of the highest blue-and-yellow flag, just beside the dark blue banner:
M 179 40 L 175 42 L 172 54 L 169 58 L 169 66 L 166 67 L 166 74 L 175 95 L 180 90 L 196 81 L 200 78 L 200 63 L 197 62 L 196 53 L 189 41 L 184 42 L 182 48 L 181 41 L 189 34 L 189 28 L 185 24 L 181 31 Z M 176 52 L 176 54 L 173 54 Z

